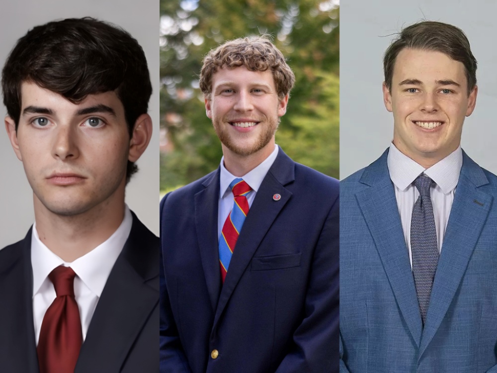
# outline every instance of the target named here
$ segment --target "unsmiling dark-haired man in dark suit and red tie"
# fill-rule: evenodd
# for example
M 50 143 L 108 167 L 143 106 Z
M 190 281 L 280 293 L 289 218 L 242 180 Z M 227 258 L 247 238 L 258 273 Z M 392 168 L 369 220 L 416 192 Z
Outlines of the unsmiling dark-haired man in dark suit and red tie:
M 2 71 L 35 223 L 0 250 L 2 372 L 155 372 L 159 239 L 124 203 L 147 148 L 147 61 L 93 18 L 34 27 Z

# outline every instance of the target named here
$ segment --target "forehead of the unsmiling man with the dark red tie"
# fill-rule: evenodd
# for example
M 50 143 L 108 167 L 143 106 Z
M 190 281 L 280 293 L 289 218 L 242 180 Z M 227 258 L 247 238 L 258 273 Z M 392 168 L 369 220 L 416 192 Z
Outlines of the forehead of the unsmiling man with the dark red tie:
M 83 101 L 73 103 L 59 93 L 47 90 L 33 82 L 21 84 L 21 114 L 27 106 L 37 106 L 51 109 L 54 112 L 72 112 L 84 107 L 106 105 L 114 109 L 116 114 L 124 114 L 121 100 L 114 91 L 88 94 Z

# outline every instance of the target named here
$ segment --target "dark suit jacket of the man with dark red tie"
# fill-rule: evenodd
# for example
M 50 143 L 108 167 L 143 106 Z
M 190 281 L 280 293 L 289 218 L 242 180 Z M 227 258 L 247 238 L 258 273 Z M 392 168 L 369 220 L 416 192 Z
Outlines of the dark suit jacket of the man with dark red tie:
M 0 250 L 0 372 L 38 373 L 33 325 L 31 229 Z M 75 373 L 158 371 L 159 238 L 133 214 L 105 283 Z

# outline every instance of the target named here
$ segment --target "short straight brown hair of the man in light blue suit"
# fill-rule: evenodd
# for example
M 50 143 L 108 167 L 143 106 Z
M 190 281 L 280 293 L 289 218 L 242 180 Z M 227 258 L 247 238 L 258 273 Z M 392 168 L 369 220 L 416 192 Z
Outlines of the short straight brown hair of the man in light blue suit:
M 460 28 L 433 21 L 422 21 L 404 28 L 383 57 L 385 86 L 389 91 L 392 87 L 395 60 L 404 48 L 441 52 L 454 61 L 462 62 L 466 71 L 468 94 L 475 88 L 477 61 L 471 53 L 468 38 Z

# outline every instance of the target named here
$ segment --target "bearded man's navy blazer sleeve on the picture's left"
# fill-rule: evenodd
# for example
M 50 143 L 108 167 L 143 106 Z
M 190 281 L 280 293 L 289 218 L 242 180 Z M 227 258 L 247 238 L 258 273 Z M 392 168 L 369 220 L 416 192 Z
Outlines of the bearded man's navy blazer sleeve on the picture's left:
M 161 220 L 166 198 L 167 195 L 161 201 Z M 172 315 L 171 304 L 169 302 L 166 276 L 164 273 L 163 249 L 164 247 L 161 238 L 160 371 L 161 373 L 191 373 L 188 361 L 183 351 L 183 347 L 181 346 L 181 341 L 179 340 L 178 330 L 176 328 L 176 323 Z

